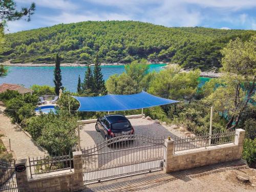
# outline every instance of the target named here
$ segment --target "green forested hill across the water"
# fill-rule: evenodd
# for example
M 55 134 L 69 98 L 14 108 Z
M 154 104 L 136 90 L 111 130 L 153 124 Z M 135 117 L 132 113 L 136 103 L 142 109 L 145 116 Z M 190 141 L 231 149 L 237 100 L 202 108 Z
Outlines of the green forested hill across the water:
M 168 28 L 132 21 L 59 24 L 7 34 L 0 61 L 50 63 L 59 53 L 62 62 L 92 63 L 98 53 L 101 62 L 147 58 L 204 70 L 220 67 L 220 49 L 230 39 L 252 35 L 253 30 Z

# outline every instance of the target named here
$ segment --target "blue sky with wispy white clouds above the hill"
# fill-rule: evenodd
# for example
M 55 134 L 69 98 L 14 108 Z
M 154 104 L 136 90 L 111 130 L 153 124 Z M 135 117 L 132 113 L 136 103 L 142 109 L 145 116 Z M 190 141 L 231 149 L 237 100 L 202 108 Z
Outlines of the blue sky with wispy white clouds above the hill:
M 138 20 L 166 27 L 256 30 L 256 0 L 14 0 L 36 4 L 31 22 L 8 23 L 7 33 L 87 20 Z

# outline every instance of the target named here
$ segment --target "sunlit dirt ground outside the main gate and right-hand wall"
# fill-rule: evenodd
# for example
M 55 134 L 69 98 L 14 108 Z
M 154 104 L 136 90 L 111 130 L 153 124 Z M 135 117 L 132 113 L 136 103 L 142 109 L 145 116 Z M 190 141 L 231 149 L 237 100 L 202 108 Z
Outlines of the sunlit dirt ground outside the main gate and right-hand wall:
M 250 178 L 249 183 L 237 175 Z M 255 191 L 256 170 L 244 161 L 214 165 L 165 174 L 162 171 L 89 184 L 82 191 Z

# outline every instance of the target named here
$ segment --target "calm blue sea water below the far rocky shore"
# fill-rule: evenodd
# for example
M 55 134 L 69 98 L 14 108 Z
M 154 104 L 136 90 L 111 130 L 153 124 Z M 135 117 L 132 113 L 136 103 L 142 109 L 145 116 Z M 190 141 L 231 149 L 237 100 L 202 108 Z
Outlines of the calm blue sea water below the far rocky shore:
M 165 64 L 152 64 L 150 71 L 159 72 L 164 66 Z M 23 84 L 26 88 L 33 84 L 54 86 L 53 70 L 54 67 L 9 67 L 8 75 L 0 78 L 0 84 L 3 82 Z M 78 75 L 82 81 L 86 70 L 87 67 L 61 67 L 63 86 L 69 91 L 76 92 Z M 115 73 L 123 73 L 124 66 L 101 66 L 101 71 L 104 80 L 106 80 Z

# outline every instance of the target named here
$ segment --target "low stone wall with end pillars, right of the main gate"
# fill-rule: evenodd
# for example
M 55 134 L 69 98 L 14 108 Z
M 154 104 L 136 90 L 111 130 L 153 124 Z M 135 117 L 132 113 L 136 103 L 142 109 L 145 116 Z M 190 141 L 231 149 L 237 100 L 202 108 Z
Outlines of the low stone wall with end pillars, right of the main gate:
M 193 148 L 174 153 L 174 141 L 164 141 L 164 171 L 174 172 L 203 165 L 240 159 L 245 131 L 237 129 L 234 143 Z

